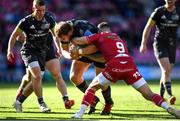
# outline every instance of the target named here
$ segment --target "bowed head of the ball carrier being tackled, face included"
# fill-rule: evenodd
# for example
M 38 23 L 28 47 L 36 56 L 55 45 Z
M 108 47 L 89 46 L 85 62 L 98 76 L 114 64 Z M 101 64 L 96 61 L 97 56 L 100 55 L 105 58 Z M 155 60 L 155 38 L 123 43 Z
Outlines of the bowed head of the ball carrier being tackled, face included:
M 61 21 L 55 26 L 55 35 L 61 41 L 69 41 L 73 35 L 73 26 L 67 21 Z

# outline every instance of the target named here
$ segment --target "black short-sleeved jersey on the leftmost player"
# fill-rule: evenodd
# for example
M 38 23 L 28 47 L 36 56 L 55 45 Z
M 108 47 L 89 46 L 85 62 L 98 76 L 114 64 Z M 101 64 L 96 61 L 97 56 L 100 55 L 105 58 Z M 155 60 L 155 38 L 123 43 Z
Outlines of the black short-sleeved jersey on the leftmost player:
M 55 20 L 48 12 L 45 13 L 42 21 L 37 21 L 32 14 L 23 18 L 18 27 L 25 32 L 27 37 L 21 50 L 40 51 L 46 49 L 49 30 L 54 26 Z

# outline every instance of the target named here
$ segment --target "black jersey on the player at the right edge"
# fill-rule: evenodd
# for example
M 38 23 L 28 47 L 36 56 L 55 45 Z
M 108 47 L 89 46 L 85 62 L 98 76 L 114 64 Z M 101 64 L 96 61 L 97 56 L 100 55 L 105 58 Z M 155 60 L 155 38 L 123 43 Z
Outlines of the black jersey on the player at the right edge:
M 177 29 L 180 25 L 180 9 L 176 7 L 169 12 L 165 6 L 160 6 L 151 14 L 156 22 L 155 39 L 168 39 L 177 37 Z

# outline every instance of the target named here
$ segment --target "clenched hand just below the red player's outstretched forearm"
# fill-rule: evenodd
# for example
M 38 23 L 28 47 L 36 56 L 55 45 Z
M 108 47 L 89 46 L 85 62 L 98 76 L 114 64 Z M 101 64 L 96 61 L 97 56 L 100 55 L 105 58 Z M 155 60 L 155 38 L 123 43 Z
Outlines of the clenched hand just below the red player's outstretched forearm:
M 79 59 L 78 48 L 75 45 L 71 45 L 69 48 L 70 56 L 72 60 Z

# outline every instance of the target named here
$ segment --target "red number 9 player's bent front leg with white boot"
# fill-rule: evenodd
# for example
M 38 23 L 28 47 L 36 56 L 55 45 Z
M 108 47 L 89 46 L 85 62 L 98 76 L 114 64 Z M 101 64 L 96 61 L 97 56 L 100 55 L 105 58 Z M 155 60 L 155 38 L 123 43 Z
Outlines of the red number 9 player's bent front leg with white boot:
M 88 89 L 86 90 L 83 96 L 81 107 L 79 111 L 73 115 L 73 118 L 81 118 L 85 113 L 87 107 L 93 103 L 95 92 L 100 88 L 102 90 L 107 90 L 109 85 L 110 85 L 110 81 L 107 80 L 102 73 L 96 76 L 89 85 Z

